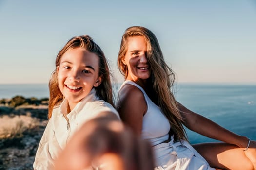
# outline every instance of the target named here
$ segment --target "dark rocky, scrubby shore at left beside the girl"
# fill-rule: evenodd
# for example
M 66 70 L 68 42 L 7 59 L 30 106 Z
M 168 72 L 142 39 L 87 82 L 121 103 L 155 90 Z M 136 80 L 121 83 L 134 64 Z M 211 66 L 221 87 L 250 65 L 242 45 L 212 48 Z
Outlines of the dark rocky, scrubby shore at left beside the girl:
M 18 136 L 0 138 L 0 170 L 32 170 L 32 164 L 40 138 L 47 124 L 47 104 L 18 105 L 16 107 L 0 105 L 0 124 L 6 124 L 5 117 L 30 118 L 33 126 L 29 126 Z M 23 116 L 23 117 L 22 117 Z M 34 121 L 35 120 L 35 121 Z M 24 120 L 26 121 L 26 119 Z M 7 122 L 11 125 L 12 122 Z M 19 124 L 20 121 L 18 121 Z M 21 123 L 20 123 L 21 124 Z M 22 124 L 21 124 L 22 125 Z M 16 126 L 19 128 L 21 126 Z M 23 126 L 22 126 L 23 127 Z M 7 127 L 1 127 L 4 130 Z

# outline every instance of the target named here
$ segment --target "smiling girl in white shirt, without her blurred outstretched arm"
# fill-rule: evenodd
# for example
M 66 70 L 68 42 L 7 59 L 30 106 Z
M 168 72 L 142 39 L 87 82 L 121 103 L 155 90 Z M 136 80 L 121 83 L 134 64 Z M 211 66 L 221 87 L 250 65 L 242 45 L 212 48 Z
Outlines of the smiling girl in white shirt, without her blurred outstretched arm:
M 81 125 L 96 117 L 119 119 L 104 53 L 88 35 L 71 38 L 59 51 L 49 82 L 49 122 L 33 164 L 53 169 L 54 160 Z

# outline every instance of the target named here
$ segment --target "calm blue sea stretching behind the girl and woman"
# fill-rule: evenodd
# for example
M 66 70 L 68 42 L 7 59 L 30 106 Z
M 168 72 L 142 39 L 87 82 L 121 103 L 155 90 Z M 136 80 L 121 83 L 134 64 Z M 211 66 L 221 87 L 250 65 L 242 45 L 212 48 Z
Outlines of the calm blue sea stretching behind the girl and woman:
M 0 99 L 16 95 L 39 99 L 49 97 L 48 85 L 0 85 Z M 180 83 L 175 86 L 174 95 L 178 102 L 193 112 L 236 134 L 256 140 L 256 85 Z M 188 129 L 186 131 L 192 144 L 216 141 Z

